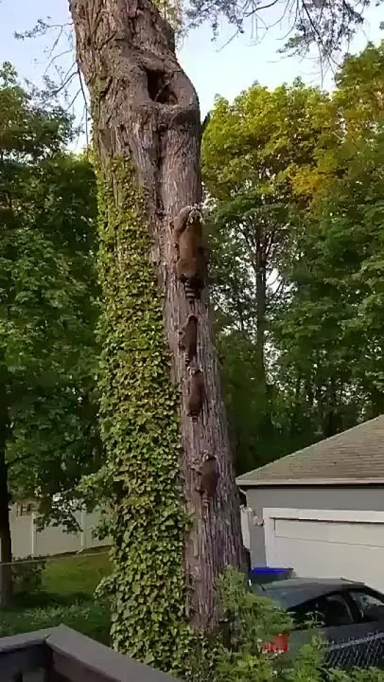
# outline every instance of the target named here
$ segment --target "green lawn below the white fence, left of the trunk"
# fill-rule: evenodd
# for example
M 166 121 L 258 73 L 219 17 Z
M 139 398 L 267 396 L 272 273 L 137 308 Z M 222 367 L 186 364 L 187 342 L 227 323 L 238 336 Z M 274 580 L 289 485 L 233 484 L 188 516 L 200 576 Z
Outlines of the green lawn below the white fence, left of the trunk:
M 17 595 L 11 609 L 1 609 L 0 637 L 63 623 L 109 644 L 108 604 L 94 599 L 94 590 L 109 571 L 108 548 L 49 557 L 41 589 Z

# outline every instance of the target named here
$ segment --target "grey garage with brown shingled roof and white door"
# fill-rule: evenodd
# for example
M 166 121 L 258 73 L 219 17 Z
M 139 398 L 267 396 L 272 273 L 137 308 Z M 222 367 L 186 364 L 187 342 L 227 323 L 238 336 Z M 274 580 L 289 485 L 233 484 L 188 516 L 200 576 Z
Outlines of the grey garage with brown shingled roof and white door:
M 384 416 L 244 474 L 252 566 L 384 591 Z

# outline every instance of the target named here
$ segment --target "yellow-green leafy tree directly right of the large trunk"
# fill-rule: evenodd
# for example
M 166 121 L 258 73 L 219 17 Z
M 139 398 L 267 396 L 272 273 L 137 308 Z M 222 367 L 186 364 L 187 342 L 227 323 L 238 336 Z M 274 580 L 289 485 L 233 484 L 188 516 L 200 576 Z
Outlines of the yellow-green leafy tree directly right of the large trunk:
M 297 212 L 310 178 L 317 182 L 318 159 L 336 144 L 330 98 L 300 81 L 274 91 L 254 85 L 233 104 L 218 99 L 204 134 L 213 302 L 239 471 L 281 448 L 268 326 L 285 291 L 279 272 L 295 257 Z

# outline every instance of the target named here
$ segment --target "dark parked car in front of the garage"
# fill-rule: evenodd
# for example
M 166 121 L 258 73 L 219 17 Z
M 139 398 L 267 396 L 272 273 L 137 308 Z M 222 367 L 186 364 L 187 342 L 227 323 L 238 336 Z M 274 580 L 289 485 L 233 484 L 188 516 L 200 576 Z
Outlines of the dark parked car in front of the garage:
M 289 578 L 255 586 L 292 615 L 295 629 L 275 643 L 289 656 L 320 631 L 326 663 L 384 668 L 384 595 L 349 580 Z M 269 643 L 273 649 L 274 643 Z

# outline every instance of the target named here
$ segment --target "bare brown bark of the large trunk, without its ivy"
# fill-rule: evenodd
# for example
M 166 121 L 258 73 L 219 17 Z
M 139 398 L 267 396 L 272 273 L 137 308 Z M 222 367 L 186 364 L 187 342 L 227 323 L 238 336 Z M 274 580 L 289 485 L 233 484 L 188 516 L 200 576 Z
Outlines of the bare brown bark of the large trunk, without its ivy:
M 217 622 L 213 580 L 225 565 L 240 565 L 242 541 L 239 499 L 213 352 L 211 310 L 206 290 L 202 300 L 194 302 L 193 309 L 198 317 L 197 364 L 204 372 L 207 393 L 197 422 L 187 416 L 188 374 L 185 355 L 179 348 L 178 331 L 191 310 L 185 290 L 175 274 L 171 221 L 181 209 L 202 199 L 199 102 L 194 87 L 175 58 L 173 32 L 148 0 L 73 0 L 72 14 L 78 61 L 91 95 L 94 142 L 103 181 L 112 191 L 118 210 L 123 181 L 113 170 L 111 159 L 128 158 L 144 192 L 145 215 L 151 236 L 148 255 L 156 272 L 156 286 L 161 291 L 163 324 L 171 358 L 169 380 L 180 389 L 182 458 L 178 475 L 187 513 L 193 520 L 186 535 L 182 531 L 183 576 L 188 587 L 184 616 L 195 626 L 209 628 Z M 108 220 L 109 229 L 113 231 L 111 209 Z M 127 269 L 127 276 L 130 276 L 130 265 L 124 255 L 126 246 L 116 245 L 114 255 L 120 261 L 120 269 Z M 132 286 L 135 284 L 132 281 Z M 119 293 L 123 292 L 116 289 L 116 296 Z M 105 297 L 104 289 L 104 305 L 114 305 L 113 300 Z M 127 315 L 129 319 L 129 311 Z M 148 315 L 151 315 L 150 310 L 139 312 L 141 317 L 137 324 L 140 325 Z M 131 343 L 135 341 L 131 339 Z M 132 352 L 136 350 L 132 346 Z M 113 353 L 112 348 L 109 348 L 109 353 Z M 148 353 L 145 361 L 151 362 L 151 348 Z M 126 400 L 128 406 L 129 395 Z M 156 386 L 153 400 L 156 401 Z M 159 442 L 155 439 L 153 447 L 159 449 Z M 216 494 L 208 506 L 204 506 L 202 495 L 196 490 L 199 477 L 193 468 L 196 462 L 202 462 L 205 451 L 217 456 L 220 473 Z M 159 467 L 159 476 L 163 475 L 167 464 L 158 463 L 156 466 Z M 135 472 L 130 475 L 135 478 Z M 173 478 L 174 473 L 170 470 L 168 475 Z M 138 509 L 137 515 L 140 513 Z M 158 513 L 162 513 L 160 507 Z M 147 532 L 150 532 L 149 527 Z M 116 537 L 115 542 L 118 542 Z M 147 540 L 149 542 L 150 538 Z M 120 570 L 124 571 L 123 559 L 120 564 Z M 151 568 L 147 566 L 147 570 Z M 128 598 L 134 578 L 125 578 Z M 168 599 L 166 592 L 161 593 L 161 578 L 156 583 L 158 599 Z M 144 586 L 142 592 L 140 598 L 148 599 Z M 130 608 L 135 609 L 132 600 L 130 604 Z M 175 604 L 169 603 L 168 609 L 173 608 L 176 608 Z M 117 616 L 121 621 L 120 629 L 124 627 L 124 617 L 120 609 Z M 124 641 L 128 634 L 118 634 L 116 628 L 114 631 L 114 641 L 120 649 L 142 656 L 140 647 L 135 648 L 132 643 Z

